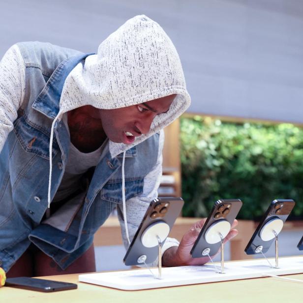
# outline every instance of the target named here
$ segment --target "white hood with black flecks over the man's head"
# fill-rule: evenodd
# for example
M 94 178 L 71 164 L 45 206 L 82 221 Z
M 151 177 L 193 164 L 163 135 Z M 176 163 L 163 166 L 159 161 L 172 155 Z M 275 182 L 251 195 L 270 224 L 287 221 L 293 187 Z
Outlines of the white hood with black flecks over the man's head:
M 147 16 L 126 21 L 99 46 L 98 53 L 79 63 L 67 76 L 58 118 L 92 105 L 99 109 L 131 106 L 177 94 L 170 110 L 156 116 L 150 132 L 131 145 L 109 142 L 112 157 L 141 143 L 178 118 L 189 106 L 182 65 L 165 31 Z

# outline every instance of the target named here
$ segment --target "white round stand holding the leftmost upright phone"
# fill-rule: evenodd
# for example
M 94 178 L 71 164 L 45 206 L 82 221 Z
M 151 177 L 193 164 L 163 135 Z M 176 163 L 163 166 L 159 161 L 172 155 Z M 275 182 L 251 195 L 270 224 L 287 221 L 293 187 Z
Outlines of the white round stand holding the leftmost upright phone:
M 167 238 L 169 232 L 169 225 L 160 221 L 148 226 L 141 236 L 141 242 L 145 247 L 158 246 L 158 279 L 161 279 L 162 275 L 162 242 Z M 141 255 L 137 262 L 142 264 L 146 259 L 146 255 Z

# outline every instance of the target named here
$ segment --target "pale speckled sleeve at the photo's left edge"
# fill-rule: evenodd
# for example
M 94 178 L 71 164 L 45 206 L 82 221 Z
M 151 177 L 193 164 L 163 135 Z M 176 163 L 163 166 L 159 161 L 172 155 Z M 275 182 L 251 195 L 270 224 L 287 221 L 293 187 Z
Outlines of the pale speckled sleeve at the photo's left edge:
M 8 49 L 0 61 L 0 152 L 13 130 L 25 92 L 25 63 L 18 46 Z

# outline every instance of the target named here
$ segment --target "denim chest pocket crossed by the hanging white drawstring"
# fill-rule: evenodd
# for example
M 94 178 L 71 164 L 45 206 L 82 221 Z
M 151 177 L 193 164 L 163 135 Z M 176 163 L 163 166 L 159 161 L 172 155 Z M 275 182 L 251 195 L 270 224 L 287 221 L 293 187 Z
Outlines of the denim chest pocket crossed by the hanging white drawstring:
M 125 179 L 125 201 L 143 192 L 144 178 Z M 110 180 L 101 190 L 101 199 L 122 204 L 122 180 Z

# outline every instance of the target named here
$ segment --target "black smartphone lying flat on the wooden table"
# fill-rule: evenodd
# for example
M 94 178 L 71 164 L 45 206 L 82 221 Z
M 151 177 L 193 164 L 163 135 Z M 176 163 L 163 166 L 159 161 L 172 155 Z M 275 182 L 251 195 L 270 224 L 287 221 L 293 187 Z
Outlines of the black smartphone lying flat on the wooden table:
M 45 293 L 68 289 L 77 289 L 78 287 L 77 284 L 74 283 L 58 282 L 30 277 L 7 278 L 5 281 L 5 286 L 41 291 Z

